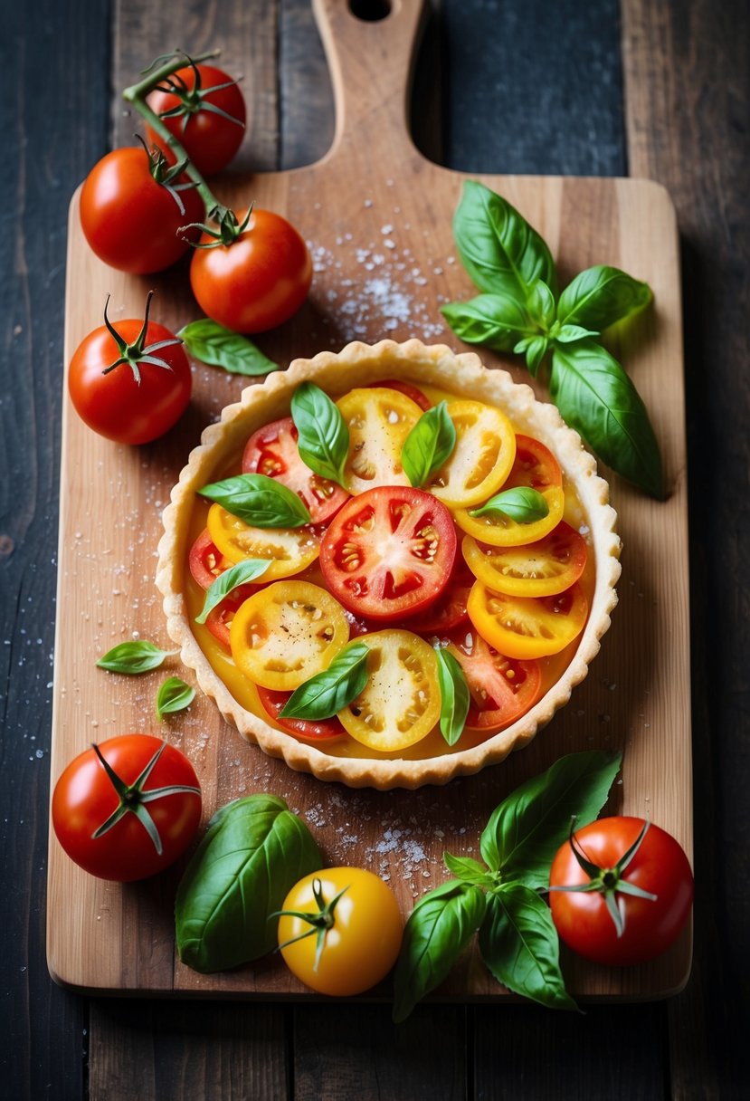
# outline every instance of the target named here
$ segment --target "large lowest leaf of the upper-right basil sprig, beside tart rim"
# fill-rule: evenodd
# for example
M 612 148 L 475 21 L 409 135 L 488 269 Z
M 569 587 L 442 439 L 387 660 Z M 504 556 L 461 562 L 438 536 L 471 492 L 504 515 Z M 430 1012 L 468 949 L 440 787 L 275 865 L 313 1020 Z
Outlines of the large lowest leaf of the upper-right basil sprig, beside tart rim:
M 649 415 L 616 359 L 591 338 L 558 345 L 550 395 L 564 421 L 627 481 L 663 498 L 661 456 Z

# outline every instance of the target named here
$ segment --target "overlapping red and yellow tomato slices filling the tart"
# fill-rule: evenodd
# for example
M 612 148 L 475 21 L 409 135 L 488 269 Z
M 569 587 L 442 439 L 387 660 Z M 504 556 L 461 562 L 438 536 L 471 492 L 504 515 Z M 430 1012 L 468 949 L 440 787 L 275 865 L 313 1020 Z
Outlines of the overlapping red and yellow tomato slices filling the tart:
M 401 450 L 430 399 L 411 384 L 385 382 L 335 404 L 349 430 L 348 489 L 305 464 L 291 416 L 249 438 L 243 473 L 293 490 L 311 523 L 256 527 L 214 502 L 189 554 L 200 589 L 245 559 L 269 565 L 260 584 L 214 606 L 206 625 L 268 716 L 298 738 L 349 735 L 378 752 L 421 741 L 441 713 L 435 644 L 466 680 L 465 729 L 487 737 L 537 702 L 543 659 L 574 642 L 587 617 L 580 580 L 586 543 L 562 520 L 560 466 L 500 410 L 451 400 L 455 448 L 428 484 L 415 488 Z M 499 487 L 538 490 L 548 515 L 531 523 L 475 516 Z M 370 651 L 365 690 L 330 718 L 282 715 L 290 695 L 352 639 Z

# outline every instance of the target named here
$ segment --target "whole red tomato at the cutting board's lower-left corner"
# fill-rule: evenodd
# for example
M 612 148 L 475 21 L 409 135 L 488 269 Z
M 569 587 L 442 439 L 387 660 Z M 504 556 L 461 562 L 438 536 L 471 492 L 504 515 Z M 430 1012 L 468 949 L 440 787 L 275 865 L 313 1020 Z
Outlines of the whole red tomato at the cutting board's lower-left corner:
M 86 750 L 52 797 L 55 835 L 70 859 L 120 883 L 174 863 L 195 837 L 200 810 L 195 768 L 150 734 L 122 734 Z

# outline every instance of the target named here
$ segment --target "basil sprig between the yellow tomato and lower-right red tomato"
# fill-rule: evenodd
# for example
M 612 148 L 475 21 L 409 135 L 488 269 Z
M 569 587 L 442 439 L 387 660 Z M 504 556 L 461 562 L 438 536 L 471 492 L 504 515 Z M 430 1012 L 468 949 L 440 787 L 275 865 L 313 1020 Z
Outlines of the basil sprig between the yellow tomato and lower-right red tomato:
M 592 750 L 561 757 L 500 803 L 481 838 L 484 863 L 445 853 L 455 879 L 423 895 L 409 916 L 394 978 L 394 1020 L 445 979 L 478 929 L 482 959 L 516 994 L 575 1009 L 560 970 L 559 940 L 539 892 L 571 819 L 593 821 L 621 754 Z

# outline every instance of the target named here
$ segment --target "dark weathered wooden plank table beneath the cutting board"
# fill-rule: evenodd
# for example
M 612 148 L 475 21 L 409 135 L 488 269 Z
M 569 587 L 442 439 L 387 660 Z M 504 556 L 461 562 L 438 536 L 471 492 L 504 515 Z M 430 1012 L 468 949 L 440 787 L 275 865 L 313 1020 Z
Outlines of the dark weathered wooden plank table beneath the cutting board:
M 697 884 L 692 979 L 670 1002 L 589 1006 L 584 1016 L 520 1004 L 423 1005 L 399 1027 L 382 1005 L 103 1001 L 52 983 L 45 864 L 69 197 L 111 144 L 128 141 L 123 58 L 158 35 L 164 51 L 228 36 L 245 50 L 254 108 L 241 167 L 316 160 L 331 139 L 332 100 L 308 0 L 173 0 L 158 12 L 145 0 L 4 0 L 0 1094 L 13 1101 L 741 1095 L 741 1007 L 750 992 L 750 9 L 745 0 L 433 7 L 415 91 L 415 134 L 426 153 L 472 172 L 651 177 L 677 208 Z

